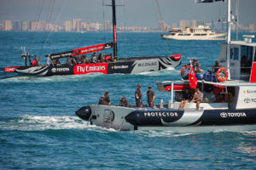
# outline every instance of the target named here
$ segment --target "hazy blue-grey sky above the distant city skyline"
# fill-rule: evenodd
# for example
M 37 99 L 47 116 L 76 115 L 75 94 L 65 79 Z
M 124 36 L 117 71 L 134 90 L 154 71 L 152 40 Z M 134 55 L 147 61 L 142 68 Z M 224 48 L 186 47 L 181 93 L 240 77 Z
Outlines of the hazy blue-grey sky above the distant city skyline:
M 38 6 L 44 2 L 39 20 L 47 20 L 53 2 L 52 20 L 59 21 L 79 18 L 84 21 L 111 20 L 111 8 L 102 7 L 102 0 L 1 0 L 0 20 L 36 20 Z M 110 4 L 110 0 L 104 0 Z M 231 0 L 235 13 L 236 0 Z M 245 26 L 256 26 L 256 0 L 239 0 L 239 22 Z M 156 27 L 160 20 L 155 0 L 116 0 L 125 7 L 117 7 L 118 26 Z M 225 3 L 195 3 L 195 0 L 159 0 L 163 20 L 167 24 L 178 20 L 224 20 Z

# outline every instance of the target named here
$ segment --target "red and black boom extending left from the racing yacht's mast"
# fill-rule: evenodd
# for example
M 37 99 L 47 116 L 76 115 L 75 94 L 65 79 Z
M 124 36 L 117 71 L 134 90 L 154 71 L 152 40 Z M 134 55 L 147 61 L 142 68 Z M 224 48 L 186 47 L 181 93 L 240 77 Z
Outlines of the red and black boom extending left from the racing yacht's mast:
M 67 58 L 69 56 L 76 56 L 81 54 L 93 53 L 96 51 L 102 51 L 108 48 L 113 48 L 113 42 L 97 44 L 97 45 L 85 47 L 85 48 L 77 48 L 77 49 L 73 49 L 73 50 L 65 51 L 61 53 L 49 54 L 49 55 L 45 55 L 45 57 L 49 57 L 50 59 L 61 59 L 61 58 Z

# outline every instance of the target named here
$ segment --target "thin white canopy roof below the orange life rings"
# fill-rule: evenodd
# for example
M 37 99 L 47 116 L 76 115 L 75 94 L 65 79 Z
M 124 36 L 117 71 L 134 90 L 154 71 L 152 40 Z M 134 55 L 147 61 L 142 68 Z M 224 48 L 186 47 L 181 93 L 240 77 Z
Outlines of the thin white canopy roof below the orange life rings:
M 184 83 L 184 82 L 189 82 L 189 80 L 184 80 L 184 81 L 164 81 L 164 82 L 161 82 L 161 83 L 179 84 L 179 83 Z M 208 81 L 198 80 L 197 82 L 203 82 L 205 84 L 212 84 L 212 85 L 226 86 L 226 87 L 256 86 L 256 83 L 244 82 L 244 81 L 241 81 L 241 80 L 229 80 L 229 81 L 225 81 L 225 82 L 208 82 Z M 159 83 L 159 82 L 156 82 L 156 83 Z

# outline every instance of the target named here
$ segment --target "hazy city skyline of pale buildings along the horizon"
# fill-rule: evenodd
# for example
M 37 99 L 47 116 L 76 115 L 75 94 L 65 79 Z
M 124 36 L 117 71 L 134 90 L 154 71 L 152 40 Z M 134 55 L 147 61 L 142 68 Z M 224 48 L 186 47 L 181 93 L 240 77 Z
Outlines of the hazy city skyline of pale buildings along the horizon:
M 172 25 L 172 26 L 171 26 Z M 139 27 L 139 26 L 117 26 L 117 31 L 170 31 L 172 29 L 180 28 L 182 31 L 186 27 L 195 28 L 197 26 L 208 26 L 212 31 L 226 31 L 225 21 L 205 22 L 205 20 L 179 20 L 179 23 L 172 23 L 168 25 L 165 21 L 159 21 L 158 26 L 154 28 Z M 255 25 L 248 26 L 238 25 L 240 31 L 255 32 Z M 231 31 L 236 30 L 236 23 L 231 24 Z M 112 31 L 112 22 L 105 21 L 105 23 L 85 22 L 81 19 L 66 20 L 61 25 L 55 25 L 46 22 L 45 20 L 3 20 L 0 22 L 0 31 Z

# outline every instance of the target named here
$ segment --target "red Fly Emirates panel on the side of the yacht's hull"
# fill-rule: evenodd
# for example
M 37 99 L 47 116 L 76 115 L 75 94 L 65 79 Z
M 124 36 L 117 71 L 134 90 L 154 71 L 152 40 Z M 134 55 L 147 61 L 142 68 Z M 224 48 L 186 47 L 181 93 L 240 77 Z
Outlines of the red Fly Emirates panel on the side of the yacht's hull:
M 87 74 L 90 72 L 102 72 L 107 74 L 108 63 L 104 64 L 89 64 L 89 65 L 75 65 L 73 68 L 74 74 Z

